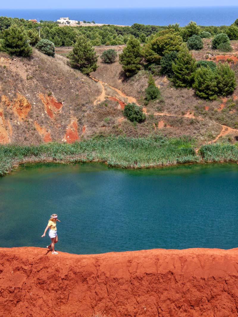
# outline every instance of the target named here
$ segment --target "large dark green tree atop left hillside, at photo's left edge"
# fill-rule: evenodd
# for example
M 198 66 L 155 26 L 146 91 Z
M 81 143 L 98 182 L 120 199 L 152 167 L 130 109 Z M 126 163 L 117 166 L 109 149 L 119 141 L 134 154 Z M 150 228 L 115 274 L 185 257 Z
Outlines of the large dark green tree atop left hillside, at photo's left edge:
M 23 26 L 11 25 L 2 34 L 2 50 L 10 55 L 28 57 L 32 54 L 32 48 Z

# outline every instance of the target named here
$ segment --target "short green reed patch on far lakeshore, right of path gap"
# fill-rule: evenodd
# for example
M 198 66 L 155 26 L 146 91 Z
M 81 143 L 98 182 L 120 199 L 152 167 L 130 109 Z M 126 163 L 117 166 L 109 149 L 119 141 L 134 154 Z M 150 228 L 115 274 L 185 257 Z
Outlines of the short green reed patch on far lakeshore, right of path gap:
M 236 162 L 238 160 L 238 143 L 203 145 L 199 149 L 199 154 L 205 162 Z

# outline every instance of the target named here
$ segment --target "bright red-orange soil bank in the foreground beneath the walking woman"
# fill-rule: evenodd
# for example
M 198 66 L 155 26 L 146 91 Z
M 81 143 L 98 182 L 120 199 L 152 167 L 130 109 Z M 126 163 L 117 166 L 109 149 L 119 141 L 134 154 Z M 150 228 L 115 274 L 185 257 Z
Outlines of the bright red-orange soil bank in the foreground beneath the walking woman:
M 0 248 L 0 316 L 233 317 L 238 249 Z

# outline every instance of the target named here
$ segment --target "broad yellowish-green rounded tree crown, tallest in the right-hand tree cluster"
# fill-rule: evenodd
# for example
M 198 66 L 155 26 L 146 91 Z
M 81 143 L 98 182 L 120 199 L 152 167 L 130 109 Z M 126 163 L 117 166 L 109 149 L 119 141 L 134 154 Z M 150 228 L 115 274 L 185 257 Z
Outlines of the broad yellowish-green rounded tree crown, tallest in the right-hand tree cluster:
M 144 56 L 149 62 L 159 64 L 161 57 L 172 52 L 179 51 L 182 45 L 182 37 L 174 29 L 165 29 L 144 46 Z

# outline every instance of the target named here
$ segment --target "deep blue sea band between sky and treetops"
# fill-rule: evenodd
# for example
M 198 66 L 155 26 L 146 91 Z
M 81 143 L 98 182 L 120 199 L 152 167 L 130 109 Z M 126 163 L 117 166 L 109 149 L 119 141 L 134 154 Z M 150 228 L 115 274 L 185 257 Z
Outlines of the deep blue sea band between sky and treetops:
M 199 25 L 230 25 L 238 18 L 238 6 L 126 8 L 126 9 L 0 9 L 0 16 L 53 20 L 68 16 L 71 20 L 94 20 L 96 23 L 132 25 L 133 23 L 185 26 L 191 20 Z

